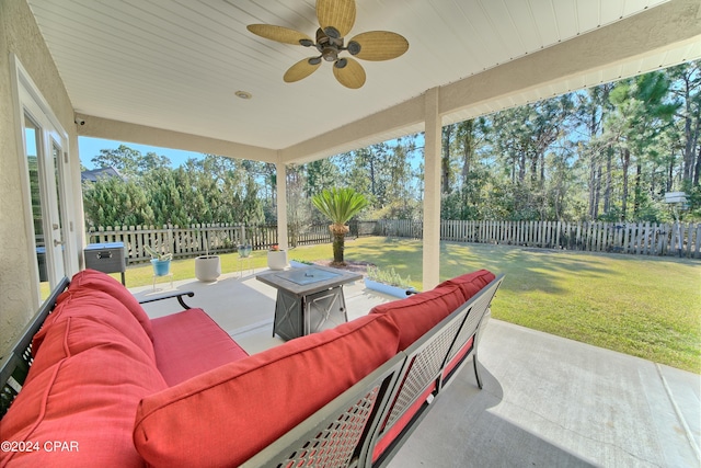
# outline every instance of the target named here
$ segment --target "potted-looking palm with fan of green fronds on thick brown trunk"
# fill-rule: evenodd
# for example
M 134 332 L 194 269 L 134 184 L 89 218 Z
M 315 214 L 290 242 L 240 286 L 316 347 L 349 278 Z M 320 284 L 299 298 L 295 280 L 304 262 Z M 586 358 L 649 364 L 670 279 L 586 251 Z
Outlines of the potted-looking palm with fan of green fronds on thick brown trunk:
M 346 222 L 368 205 L 366 197 L 353 189 L 324 190 L 312 196 L 311 202 L 322 215 L 331 220 L 333 237 L 333 264 L 345 265 L 343 249 L 346 233 L 350 230 Z

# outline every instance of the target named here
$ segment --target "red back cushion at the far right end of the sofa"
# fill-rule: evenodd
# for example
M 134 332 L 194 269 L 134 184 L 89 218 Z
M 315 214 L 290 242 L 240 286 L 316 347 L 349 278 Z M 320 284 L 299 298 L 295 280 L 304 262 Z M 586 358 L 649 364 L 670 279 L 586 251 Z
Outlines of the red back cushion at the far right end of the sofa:
M 370 313 L 387 313 L 392 317 L 400 329 L 400 350 L 404 351 L 494 277 L 493 273 L 480 270 L 448 279 L 432 290 L 406 299 L 380 304 Z

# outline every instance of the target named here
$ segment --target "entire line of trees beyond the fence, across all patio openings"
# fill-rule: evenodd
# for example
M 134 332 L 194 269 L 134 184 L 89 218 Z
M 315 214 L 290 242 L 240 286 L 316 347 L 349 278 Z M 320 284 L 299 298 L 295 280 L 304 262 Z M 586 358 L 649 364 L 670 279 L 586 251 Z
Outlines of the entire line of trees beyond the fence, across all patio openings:
M 701 220 L 700 90 L 694 61 L 446 125 L 441 217 Z M 333 187 L 364 194 L 365 219 L 420 219 L 423 149 L 416 134 L 289 165 L 292 235 L 323 221 L 311 198 Z M 274 164 L 203 155 L 172 168 L 126 146 L 92 162 L 122 178 L 84 183 L 89 226 L 275 222 Z M 687 207 L 664 203 L 673 191 L 686 192 Z

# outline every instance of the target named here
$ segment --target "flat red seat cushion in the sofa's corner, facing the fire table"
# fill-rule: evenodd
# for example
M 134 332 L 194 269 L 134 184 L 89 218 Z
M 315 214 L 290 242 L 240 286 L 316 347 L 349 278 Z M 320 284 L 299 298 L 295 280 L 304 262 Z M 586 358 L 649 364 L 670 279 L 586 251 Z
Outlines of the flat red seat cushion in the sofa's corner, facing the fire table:
M 169 386 L 249 355 L 202 309 L 153 319 L 156 365 Z

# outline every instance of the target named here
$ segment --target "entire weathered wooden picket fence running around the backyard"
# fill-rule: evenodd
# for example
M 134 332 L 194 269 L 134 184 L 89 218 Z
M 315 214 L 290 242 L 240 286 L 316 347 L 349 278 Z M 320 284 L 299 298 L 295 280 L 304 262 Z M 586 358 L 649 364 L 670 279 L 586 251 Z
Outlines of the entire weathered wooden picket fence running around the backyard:
M 290 232 L 292 246 L 331 242 L 327 225 Z M 423 238 L 421 220 L 380 219 L 350 222 L 350 236 Z M 562 222 L 562 221 L 462 221 L 440 222 L 440 239 L 590 252 L 678 255 L 701 259 L 701 224 Z M 175 258 L 233 252 L 251 243 L 254 250 L 277 243 L 275 225 L 129 226 L 91 229 L 90 243 L 123 242 L 130 263 L 150 259 L 151 246 Z

